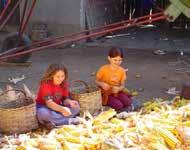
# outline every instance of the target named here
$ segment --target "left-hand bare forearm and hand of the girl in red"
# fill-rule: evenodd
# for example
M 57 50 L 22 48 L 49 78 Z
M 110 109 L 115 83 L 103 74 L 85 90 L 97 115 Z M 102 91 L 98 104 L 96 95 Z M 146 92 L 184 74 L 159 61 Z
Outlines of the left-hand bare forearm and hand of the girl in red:
M 47 100 L 46 105 L 48 108 L 60 112 L 64 116 L 69 116 L 71 115 L 71 111 L 67 107 L 63 107 L 61 105 L 56 104 L 53 100 Z

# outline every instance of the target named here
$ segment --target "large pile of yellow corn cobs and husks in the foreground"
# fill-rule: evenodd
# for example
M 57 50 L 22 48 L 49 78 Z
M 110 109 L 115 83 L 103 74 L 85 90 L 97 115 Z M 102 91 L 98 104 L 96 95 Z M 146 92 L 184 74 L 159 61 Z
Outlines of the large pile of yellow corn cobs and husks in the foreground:
M 23 134 L 4 149 L 16 150 L 187 150 L 190 149 L 188 100 L 144 104 L 138 112 L 113 109 L 96 117 L 86 113 L 79 125 L 66 125 L 48 134 Z M 7 137 L 8 138 L 8 137 Z

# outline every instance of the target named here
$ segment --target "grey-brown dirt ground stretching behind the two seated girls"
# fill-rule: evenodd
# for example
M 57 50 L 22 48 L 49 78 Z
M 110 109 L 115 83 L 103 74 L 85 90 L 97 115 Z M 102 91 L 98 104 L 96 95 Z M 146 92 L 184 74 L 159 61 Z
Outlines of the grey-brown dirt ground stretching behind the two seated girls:
M 166 91 L 181 89 L 190 78 L 190 31 L 155 28 L 133 28 L 117 33 L 117 37 L 73 45 L 71 48 L 54 48 L 32 54 L 29 67 L 0 66 L 0 86 L 8 83 L 9 77 L 25 75 L 22 83 L 37 92 L 42 74 L 51 63 L 64 63 L 69 70 L 69 81 L 81 79 L 93 83 L 96 70 L 107 63 L 107 52 L 111 46 L 124 49 L 123 67 L 128 68 L 126 87 L 139 92 L 140 101 L 155 97 L 171 99 Z M 115 35 L 114 35 L 115 36 Z M 165 54 L 155 54 L 163 50 Z M 189 51 L 188 51 L 189 50 Z M 182 53 L 183 52 L 183 53 Z M 183 55 L 180 55 L 183 54 Z M 74 86 L 70 84 L 71 88 Z

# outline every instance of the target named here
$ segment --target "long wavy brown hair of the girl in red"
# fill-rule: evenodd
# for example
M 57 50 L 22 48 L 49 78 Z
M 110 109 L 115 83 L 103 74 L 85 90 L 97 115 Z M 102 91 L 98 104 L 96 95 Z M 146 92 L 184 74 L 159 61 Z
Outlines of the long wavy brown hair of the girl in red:
M 48 69 L 46 70 L 44 76 L 41 79 L 41 83 L 48 82 L 53 80 L 53 76 L 58 72 L 58 71 L 63 71 L 65 73 L 65 80 L 61 84 L 64 86 L 65 81 L 68 78 L 68 72 L 66 67 L 63 64 L 51 64 Z

